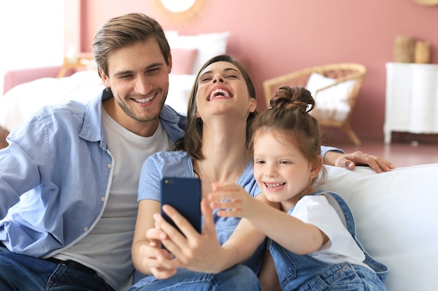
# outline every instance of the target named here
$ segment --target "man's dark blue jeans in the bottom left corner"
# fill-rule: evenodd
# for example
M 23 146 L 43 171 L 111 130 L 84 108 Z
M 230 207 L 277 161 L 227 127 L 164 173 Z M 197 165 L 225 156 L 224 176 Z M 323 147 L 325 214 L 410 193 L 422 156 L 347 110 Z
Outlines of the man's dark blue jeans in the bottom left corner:
M 0 246 L 1 291 L 110 291 L 104 279 Z

